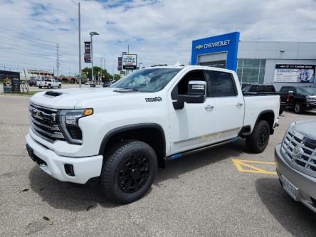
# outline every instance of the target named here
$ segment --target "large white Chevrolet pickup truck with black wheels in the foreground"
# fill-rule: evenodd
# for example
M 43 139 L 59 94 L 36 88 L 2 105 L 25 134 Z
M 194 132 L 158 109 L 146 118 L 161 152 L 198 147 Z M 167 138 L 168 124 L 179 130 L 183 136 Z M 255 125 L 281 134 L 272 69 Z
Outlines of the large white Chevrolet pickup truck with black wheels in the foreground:
M 108 88 L 36 93 L 26 147 L 52 177 L 79 184 L 98 177 L 105 196 L 125 204 L 148 191 L 169 159 L 238 138 L 263 152 L 279 107 L 278 95 L 243 96 L 232 70 L 145 68 Z

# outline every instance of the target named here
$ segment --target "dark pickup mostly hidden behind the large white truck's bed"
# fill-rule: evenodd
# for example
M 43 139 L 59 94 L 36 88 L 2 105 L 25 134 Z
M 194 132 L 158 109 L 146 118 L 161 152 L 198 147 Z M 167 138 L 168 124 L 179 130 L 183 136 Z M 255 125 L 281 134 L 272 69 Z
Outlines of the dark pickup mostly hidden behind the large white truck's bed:
M 280 95 L 280 115 L 288 106 L 288 93 L 276 92 L 274 85 L 247 84 L 243 86 L 243 94 L 245 93 L 248 93 L 248 95 L 251 93 Z

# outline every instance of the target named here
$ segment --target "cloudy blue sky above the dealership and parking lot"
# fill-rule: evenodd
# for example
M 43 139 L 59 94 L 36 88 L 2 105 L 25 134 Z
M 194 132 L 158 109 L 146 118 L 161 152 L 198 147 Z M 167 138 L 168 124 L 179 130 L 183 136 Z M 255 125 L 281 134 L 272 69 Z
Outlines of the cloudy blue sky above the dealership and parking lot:
M 0 0 L 0 70 L 56 70 L 59 43 L 60 74 L 77 73 L 73 1 Z M 90 31 L 100 33 L 93 41 L 95 65 L 105 58 L 109 73 L 117 72 L 117 57 L 127 44 L 138 62 L 149 66 L 188 64 L 192 40 L 233 31 L 241 32 L 241 41 L 316 41 L 314 0 L 91 0 L 80 5 L 81 40 L 89 41 Z

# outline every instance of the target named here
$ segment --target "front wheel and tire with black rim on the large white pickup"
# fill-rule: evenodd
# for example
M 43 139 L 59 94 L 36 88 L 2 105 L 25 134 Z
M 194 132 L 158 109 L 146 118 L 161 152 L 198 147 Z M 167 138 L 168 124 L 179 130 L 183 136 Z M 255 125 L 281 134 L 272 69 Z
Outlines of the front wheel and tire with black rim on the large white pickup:
M 157 173 L 157 156 L 149 144 L 126 140 L 105 154 L 100 186 L 107 199 L 128 204 L 147 193 Z

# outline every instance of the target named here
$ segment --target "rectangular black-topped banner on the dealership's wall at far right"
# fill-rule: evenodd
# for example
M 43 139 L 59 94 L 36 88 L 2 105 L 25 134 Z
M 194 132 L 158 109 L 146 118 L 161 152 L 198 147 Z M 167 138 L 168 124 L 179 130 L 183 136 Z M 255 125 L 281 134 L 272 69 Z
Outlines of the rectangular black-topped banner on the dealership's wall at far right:
M 276 64 L 275 83 L 314 83 L 315 65 Z

